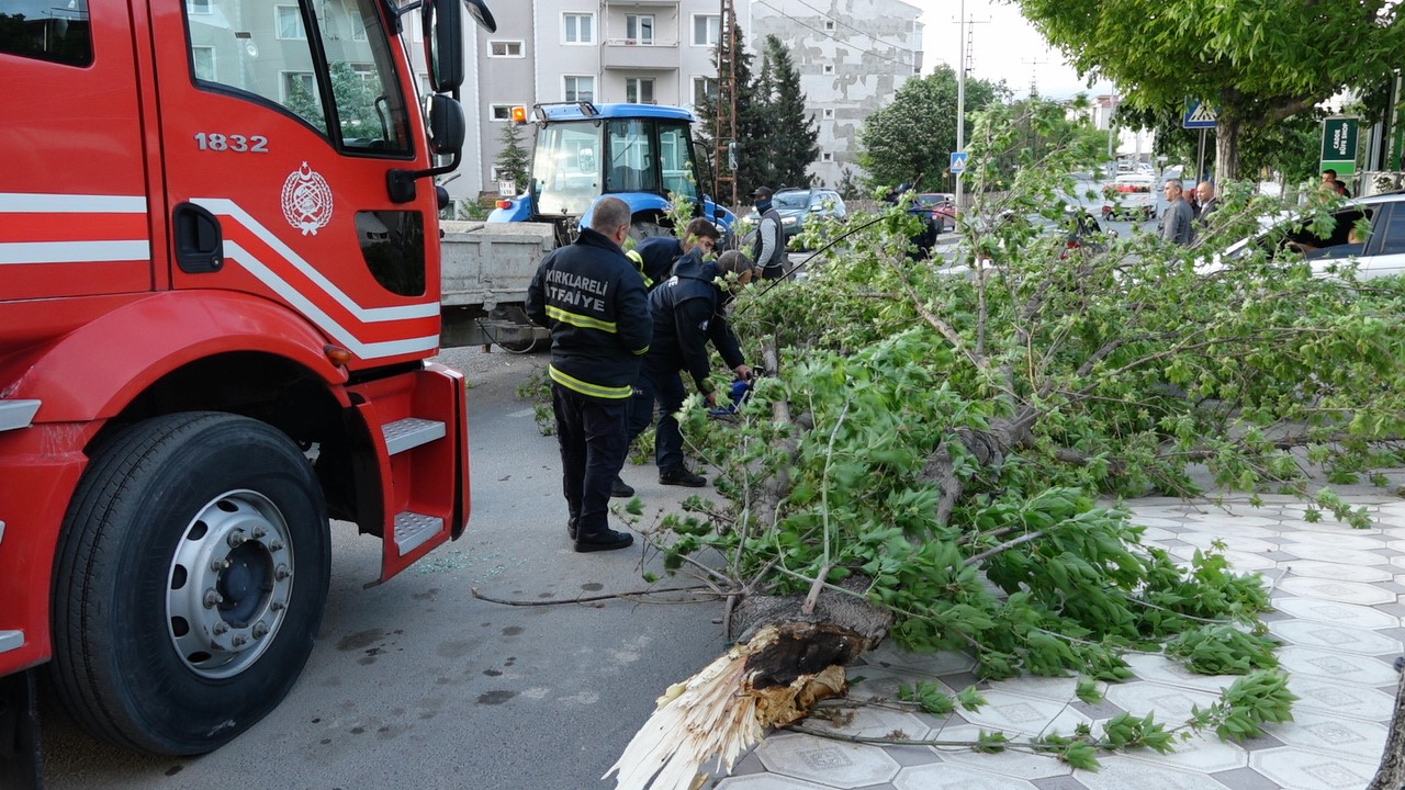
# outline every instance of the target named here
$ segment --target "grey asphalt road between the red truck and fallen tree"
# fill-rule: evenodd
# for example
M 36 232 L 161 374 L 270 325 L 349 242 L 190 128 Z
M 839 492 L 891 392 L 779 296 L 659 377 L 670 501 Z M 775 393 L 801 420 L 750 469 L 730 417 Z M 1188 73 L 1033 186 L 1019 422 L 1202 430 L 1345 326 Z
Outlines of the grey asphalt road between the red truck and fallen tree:
M 600 776 L 655 699 L 724 649 L 722 604 L 475 600 L 472 588 L 548 603 L 648 585 L 638 543 L 572 551 L 555 439 L 541 436 L 531 405 L 516 396 L 545 356 L 459 349 L 443 361 L 471 382 L 468 533 L 362 589 L 379 572 L 381 543 L 336 524 L 330 602 L 308 668 L 271 715 L 211 755 L 118 751 L 49 697 L 49 790 L 614 787 Z M 625 479 L 646 513 L 694 493 L 659 486 L 652 467 L 627 467 Z

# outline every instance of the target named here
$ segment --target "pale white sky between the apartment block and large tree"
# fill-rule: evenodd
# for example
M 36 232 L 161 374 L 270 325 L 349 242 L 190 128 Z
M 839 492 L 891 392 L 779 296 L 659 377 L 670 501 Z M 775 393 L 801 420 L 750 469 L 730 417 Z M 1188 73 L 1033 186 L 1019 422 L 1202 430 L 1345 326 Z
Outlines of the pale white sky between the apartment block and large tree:
M 937 63 L 953 69 L 960 66 L 961 0 L 905 0 L 923 10 L 922 44 L 926 49 L 923 73 Z M 1027 96 L 1034 79 L 1040 96 L 1068 98 L 1086 91 L 1092 96 L 1107 93 L 1110 84 L 1087 87 L 1057 51 L 1051 49 L 1023 15 L 1019 6 L 991 0 L 965 0 L 965 15 L 971 30 L 971 69 L 967 76 L 984 80 L 1005 80 L 1016 96 Z

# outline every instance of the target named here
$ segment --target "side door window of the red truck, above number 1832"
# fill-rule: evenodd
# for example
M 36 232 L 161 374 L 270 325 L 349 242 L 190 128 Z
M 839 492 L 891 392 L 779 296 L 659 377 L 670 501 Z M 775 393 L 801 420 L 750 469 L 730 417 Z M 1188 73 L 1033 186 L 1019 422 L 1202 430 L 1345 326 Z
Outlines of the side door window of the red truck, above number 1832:
M 348 153 L 407 155 L 409 115 L 378 6 L 185 3 L 192 77 L 271 101 Z

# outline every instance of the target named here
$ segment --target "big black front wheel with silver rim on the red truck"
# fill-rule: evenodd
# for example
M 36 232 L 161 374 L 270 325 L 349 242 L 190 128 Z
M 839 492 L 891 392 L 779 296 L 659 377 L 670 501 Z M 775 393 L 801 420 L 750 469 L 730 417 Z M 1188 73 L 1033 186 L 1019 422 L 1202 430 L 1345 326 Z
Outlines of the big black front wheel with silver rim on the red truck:
M 93 735 L 197 755 L 292 689 L 322 623 L 326 503 L 273 426 L 187 412 L 104 441 L 59 538 L 53 686 Z

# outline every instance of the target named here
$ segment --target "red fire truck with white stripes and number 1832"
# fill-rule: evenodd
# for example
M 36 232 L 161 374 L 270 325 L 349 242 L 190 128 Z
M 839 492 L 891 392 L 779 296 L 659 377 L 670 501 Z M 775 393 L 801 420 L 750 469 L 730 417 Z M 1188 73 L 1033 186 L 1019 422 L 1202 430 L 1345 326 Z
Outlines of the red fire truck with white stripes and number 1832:
M 41 665 L 94 735 L 208 752 L 302 671 L 329 517 L 379 581 L 462 533 L 464 381 L 427 360 L 465 8 L 493 30 L 482 0 L 0 0 L 0 786 L 37 777 Z

